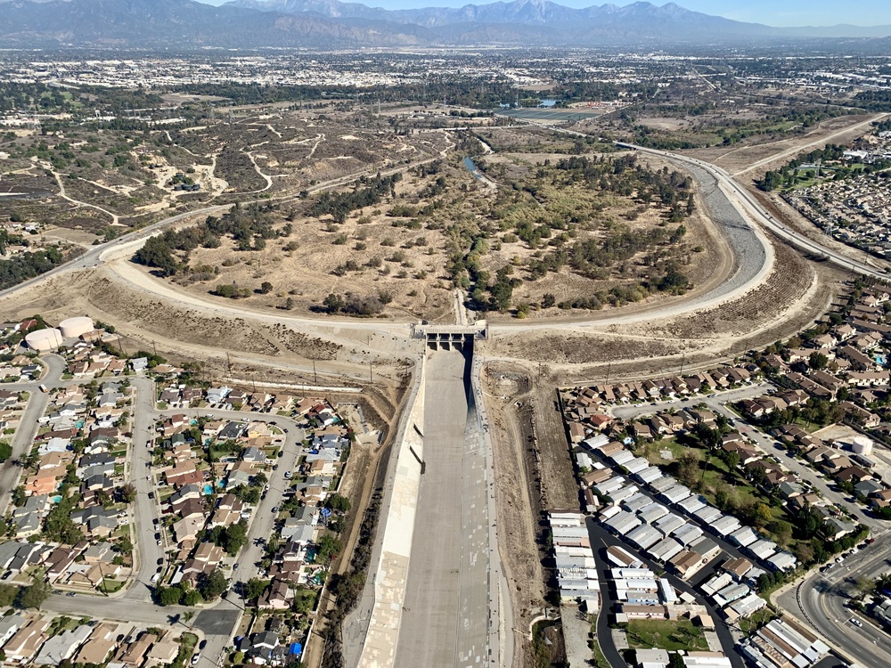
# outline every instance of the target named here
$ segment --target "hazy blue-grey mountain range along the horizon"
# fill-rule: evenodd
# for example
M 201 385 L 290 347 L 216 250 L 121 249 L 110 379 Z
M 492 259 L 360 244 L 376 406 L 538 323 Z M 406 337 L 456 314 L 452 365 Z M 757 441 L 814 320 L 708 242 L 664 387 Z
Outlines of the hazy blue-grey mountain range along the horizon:
M 573 9 L 548 0 L 385 10 L 339 0 L 0 0 L 0 48 L 249 48 L 434 45 L 745 45 L 886 37 L 891 27 L 778 29 L 637 2 Z

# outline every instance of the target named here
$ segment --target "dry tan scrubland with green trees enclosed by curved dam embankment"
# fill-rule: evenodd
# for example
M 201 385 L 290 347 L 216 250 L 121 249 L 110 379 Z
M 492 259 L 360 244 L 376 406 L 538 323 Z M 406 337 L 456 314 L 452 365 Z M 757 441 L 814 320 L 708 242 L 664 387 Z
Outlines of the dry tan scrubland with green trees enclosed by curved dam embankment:
M 209 225 L 216 239 L 168 236 L 170 257 L 139 259 L 185 289 L 250 305 L 431 321 L 451 315 L 454 287 L 471 308 L 523 318 L 679 295 L 708 278 L 688 176 L 535 129 L 483 139 L 456 134 L 443 157 L 244 208 Z M 316 141 L 317 152 L 330 140 Z M 268 164 L 273 151 L 263 155 Z M 462 164 L 469 155 L 482 156 L 485 178 Z

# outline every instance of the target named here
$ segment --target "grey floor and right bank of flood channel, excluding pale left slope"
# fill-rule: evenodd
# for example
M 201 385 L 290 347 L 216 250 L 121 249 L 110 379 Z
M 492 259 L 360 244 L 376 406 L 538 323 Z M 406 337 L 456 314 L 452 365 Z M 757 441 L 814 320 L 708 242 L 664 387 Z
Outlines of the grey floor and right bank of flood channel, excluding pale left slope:
M 406 668 L 490 663 L 489 480 L 473 347 L 462 347 L 427 353 L 424 473 L 396 647 Z

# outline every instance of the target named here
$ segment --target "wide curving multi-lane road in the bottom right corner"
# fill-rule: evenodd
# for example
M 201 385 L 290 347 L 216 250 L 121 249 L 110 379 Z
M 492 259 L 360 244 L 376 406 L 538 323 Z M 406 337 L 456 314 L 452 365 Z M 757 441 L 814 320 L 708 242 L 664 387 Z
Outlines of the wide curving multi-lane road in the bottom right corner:
M 862 668 L 891 665 L 891 639 L 869 617 L 845 607 L 857 578 L 887 573 L 891 542 L 877 541 L 825 573 L 814 573 L 777 597 L 783 609 L 810 624 L 831 646 Z M 862 622 L 858 627 L 852 618 Z

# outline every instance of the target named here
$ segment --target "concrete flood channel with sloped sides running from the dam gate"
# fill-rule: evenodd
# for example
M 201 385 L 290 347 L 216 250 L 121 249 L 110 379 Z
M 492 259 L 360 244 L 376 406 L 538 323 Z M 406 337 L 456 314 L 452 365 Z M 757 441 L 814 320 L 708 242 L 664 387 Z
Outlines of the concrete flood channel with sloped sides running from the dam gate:
M 345 661 L 496 666 L 502 575 L 473 337 L 418 338 L 425 353 L 393 445 L 375 566 L 345 624 Z

